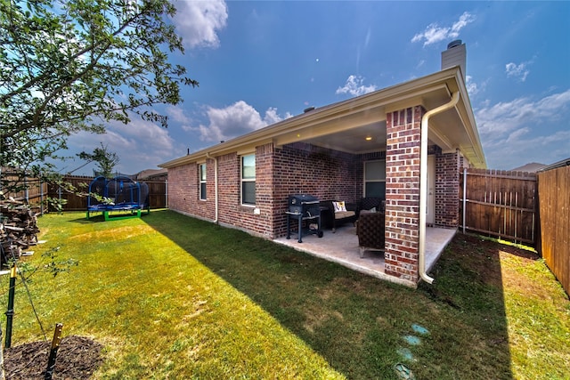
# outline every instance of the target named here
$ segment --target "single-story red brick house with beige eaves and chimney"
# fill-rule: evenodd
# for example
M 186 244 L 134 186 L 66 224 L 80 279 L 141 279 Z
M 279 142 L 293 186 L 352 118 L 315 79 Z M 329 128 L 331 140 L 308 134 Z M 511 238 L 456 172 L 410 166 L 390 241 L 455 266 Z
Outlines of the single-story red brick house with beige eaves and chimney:
M 457 229 L 460 166 L 486 166 L 464 73 L 465 45 L 452 43 L 434 74 L 164 163 L 169 208 L 276 239 L 286 234 L 291 194 L 380 196 L 387 275 L 411 286 L 429 280 L 425 226 Z

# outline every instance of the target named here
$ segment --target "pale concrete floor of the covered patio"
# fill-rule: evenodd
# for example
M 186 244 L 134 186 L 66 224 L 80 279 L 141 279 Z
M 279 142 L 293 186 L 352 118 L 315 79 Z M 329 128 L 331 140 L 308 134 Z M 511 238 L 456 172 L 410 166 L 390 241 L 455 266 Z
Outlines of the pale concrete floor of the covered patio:
M 455 236 L 457 230 L 437 227 L 427 227 L 426 229 L 426 271 L 436 264 L 437 259 L 444 251 L 444 248 Z M 303 243 L 297 242 L 297 235 L 291 239 L 281 237 L 273 240 L 275 243 L 292 247 L 298 251 L 309 255 L 320 257 L 333 263 L 359 271 L 378 279 L 402 283 L 409 285 L 405 281 L 388 275 L 384 270 L 384 253 L 376 251 L 365 251 L 364 257 L 360 257 L 358 247 L 358 237 L 356 228 L 352 224 L 345 224 L 337 229 L 336 233 L 325 230 L 321 239 L 316 235 L 307 235 L 303 238 Z

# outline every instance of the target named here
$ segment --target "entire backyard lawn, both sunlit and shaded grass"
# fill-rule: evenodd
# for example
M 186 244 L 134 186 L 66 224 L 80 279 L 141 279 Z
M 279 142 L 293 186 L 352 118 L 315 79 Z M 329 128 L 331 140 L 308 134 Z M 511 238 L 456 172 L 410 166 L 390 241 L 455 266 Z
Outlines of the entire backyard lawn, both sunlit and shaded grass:
M 517 247 L 458 234 L 435 285 L 410 289 L 166 210 L 40 228 L 31 264 L 56 245 L 79 264 L 34 274 L 39 318 L 105 345 L 95 378 L 570 377 L 568 298 Z M 43 339 L 23 287 L 15 310 L 12 345 Z

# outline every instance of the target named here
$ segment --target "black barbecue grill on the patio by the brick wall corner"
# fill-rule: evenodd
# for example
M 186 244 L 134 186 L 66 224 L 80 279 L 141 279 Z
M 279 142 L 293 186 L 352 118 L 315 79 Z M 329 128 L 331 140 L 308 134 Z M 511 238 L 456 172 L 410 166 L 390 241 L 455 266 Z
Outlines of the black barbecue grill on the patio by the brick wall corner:
M 321 207 L 319 199 L 308 194 L 290 195 L 288 199 L 287 211 L 287 239 L 290 238 L 290 220 L 297 220 L 298 224 L 298 242 L 302 243 L 302 237 L 305 234 L 316 234 L 322 238 L 321 230 Z M 303 222 L 305 221 L 305 230 Z

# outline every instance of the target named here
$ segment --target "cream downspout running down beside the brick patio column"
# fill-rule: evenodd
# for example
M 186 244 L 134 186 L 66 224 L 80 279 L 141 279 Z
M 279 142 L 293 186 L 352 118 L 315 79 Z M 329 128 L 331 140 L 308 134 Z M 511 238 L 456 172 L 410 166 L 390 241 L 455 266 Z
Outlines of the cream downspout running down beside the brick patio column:
M 452 100 L 436 109 L 431 109 L 421 117 L 421 141 L 419 151 L 419 277 L 428 284 L 434 279 L 426 273 L 426 206 L 428 203 L 428 124 L 429 117 L 455 107 L 460 100 L 460 93 L 452 94 Z

